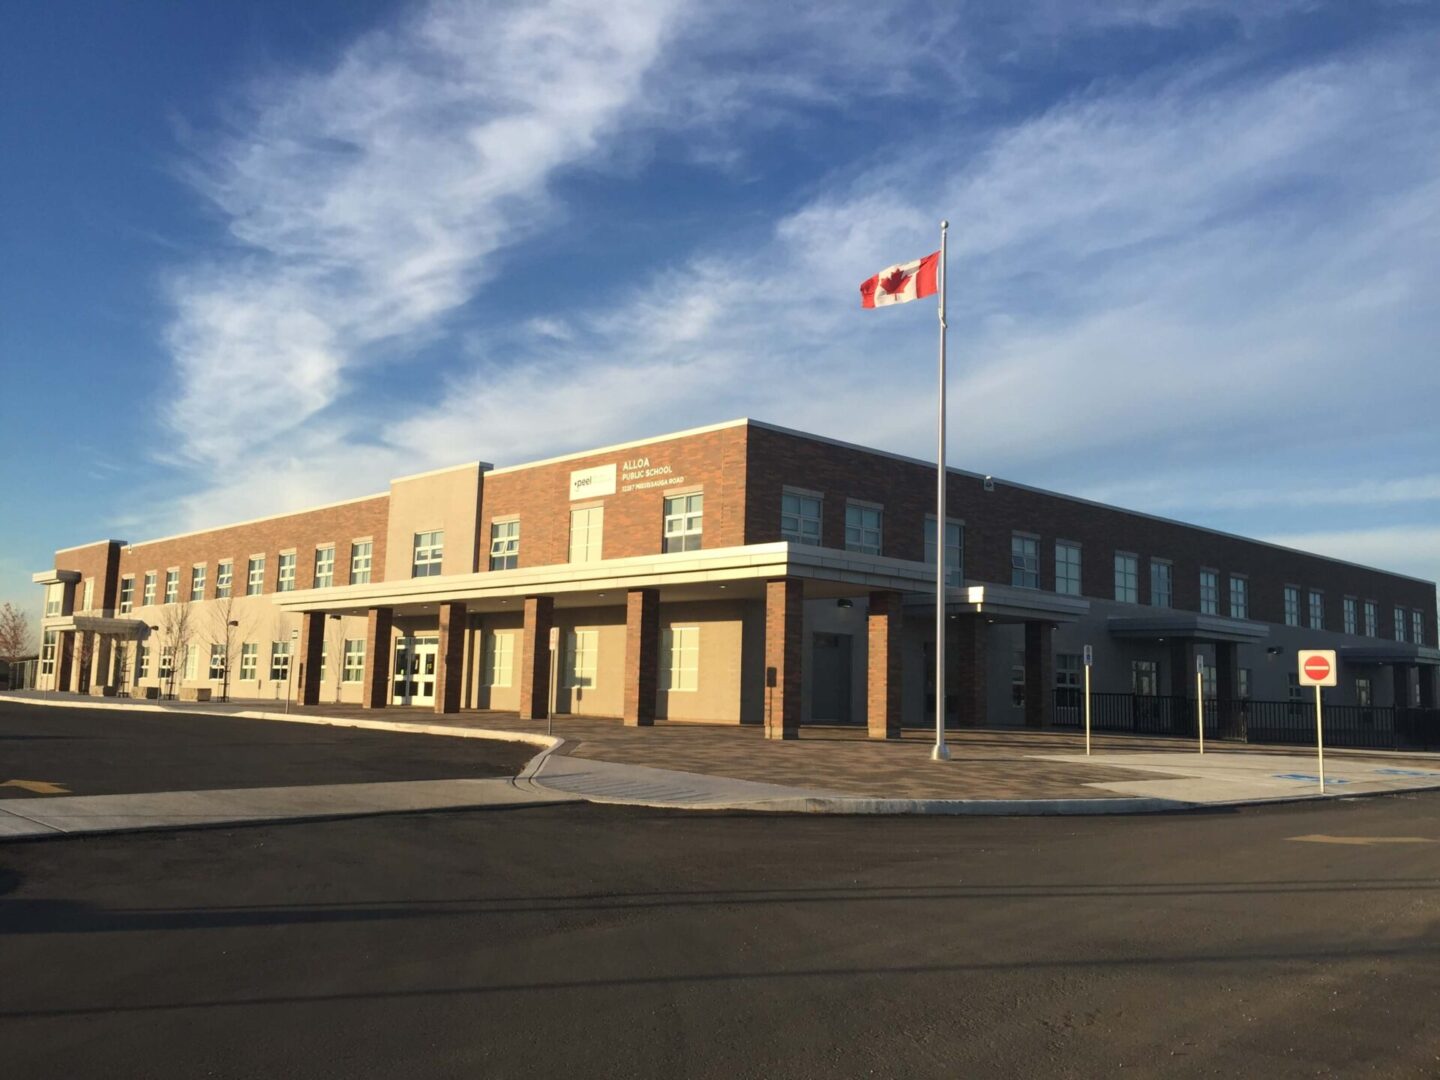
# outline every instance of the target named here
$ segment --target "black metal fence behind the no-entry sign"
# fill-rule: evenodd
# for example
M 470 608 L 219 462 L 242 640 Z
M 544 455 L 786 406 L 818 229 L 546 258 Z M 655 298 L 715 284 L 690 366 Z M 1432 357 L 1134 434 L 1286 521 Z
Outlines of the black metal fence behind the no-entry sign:
M 1332 706 L 1320 710 L 1326 746 L 1440 750 L 1440 708 Z M 1056 727 L 1084 724 L 1084 691 L 1061 688 Z M 1195 698 L 1090 694 L 1090 730 L 1195 737 Z M 1205 701 L 1205 737 L 1250 743 L 1315 743 L 1315 701 Z

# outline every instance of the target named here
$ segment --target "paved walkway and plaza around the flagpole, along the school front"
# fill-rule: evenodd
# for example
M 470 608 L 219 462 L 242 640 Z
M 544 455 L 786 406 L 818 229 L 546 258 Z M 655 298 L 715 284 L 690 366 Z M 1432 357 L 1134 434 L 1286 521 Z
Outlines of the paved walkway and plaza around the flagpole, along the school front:
M 516 778 L 518 792 L 536 799 L 681 809 L 1135 814 L 1440 788 L 1440 755 L 1326 752 L 1322 796 L 1313 750 L 1300 747 L 1211 743 L 1200 755 L 1194 743 L 1182 740 L 1097 736 L 1093 756 L 1086 757 L 1083 739 L 1068 732 L 965 730 L 949 733 L 953 757 L 942 763 L 929 760 L 929 732 L 876 742 L 858 727 L 806 727 L 799 740 L 769 742 L 752 726 L 657 723 L 632 729 L 618 720 L 580 717 L 559 717 L 552 726 L 513 713 L 436 716 L 318 706 L 285 716 L 249 704 L 45 694 L 4 698 L 523 740 L 540 753 Z M 550 727 L 554 737 L 546 734 Z

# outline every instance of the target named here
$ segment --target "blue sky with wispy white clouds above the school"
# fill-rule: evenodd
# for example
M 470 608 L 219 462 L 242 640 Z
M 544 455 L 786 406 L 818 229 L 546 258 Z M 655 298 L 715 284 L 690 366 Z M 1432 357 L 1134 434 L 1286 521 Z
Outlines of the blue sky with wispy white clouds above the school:
M 755 416 L 1440 577 L 1440 10 L 0 6 L 0 599 Z

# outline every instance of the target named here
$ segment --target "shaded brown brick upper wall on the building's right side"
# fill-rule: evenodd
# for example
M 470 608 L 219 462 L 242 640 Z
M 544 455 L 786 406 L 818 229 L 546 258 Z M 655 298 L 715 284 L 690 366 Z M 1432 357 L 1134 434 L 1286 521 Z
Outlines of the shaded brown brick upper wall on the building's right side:
M 827 547 L 845 546 L 845 500 L 850 497 L 884 505 L 884 554 L 899 559 L 924 556 L 924 518 L 935 513 L 933 468 L 750 428 L 747 543 L 780 539 L 780 490 L 786 484 L 824 492 Z M 1139 556 L 1142 603 L 1151 599 L 1149 560 L 1168 559 L 1174 563 L 1172 602 L 1179 609 L 1200 609 L 1200 570 L 1210 567 L 1220 572 L 1221 615 L 1228 613 L 1228 576 L 1238 573 L 1250 580 L 1251 619 L 1283 622 L 1282 590 L 1286 585 L 1299 585 L 1302 589 L 1325 590 L 1326 629 L 1344 629 L 1342 598 L 1355 596 L 1378 602 L 1381 636 L 1390 636 L 1392 606 L 1426 612 L 1427 641 L 1434 644 L 1436 590 L 1424 582 L 1025 491 L 1001 481 L 995 482 L 994 491 L 985 491 L 975 477 L 952 475 L 946 504 L 950 517 L 965 521 L 965 576 L 971 579 L 1008 585 L 1011 533 L 1025 531 L 1040 536 L 1043 589 L 1056 586 L 1056 540 L 1073 540 L 1081 544 L 1081 590 L 1086 596 L 1113 599 L 1115 553 L 1132 552 Z

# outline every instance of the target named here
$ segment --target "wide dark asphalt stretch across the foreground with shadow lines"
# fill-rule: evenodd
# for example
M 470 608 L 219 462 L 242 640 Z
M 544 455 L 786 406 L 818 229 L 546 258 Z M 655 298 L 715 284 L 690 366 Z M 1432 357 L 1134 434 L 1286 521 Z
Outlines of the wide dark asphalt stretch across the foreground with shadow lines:
M 1130 818 L 563 805 L 0 847 L 65 1077 L 1440 1073 L 1440 796 Z

